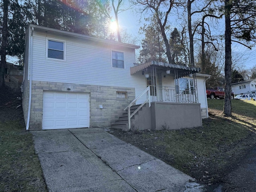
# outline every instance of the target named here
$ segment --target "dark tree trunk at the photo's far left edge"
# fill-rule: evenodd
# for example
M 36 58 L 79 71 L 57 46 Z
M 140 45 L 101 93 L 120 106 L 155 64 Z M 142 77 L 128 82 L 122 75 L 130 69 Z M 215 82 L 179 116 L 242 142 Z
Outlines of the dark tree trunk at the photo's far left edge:
M 7 45 L 7 18 L 8 18 L 9 0 L 3 0 L 3 27 L 1 42 L 1 66 L 0 66 L 0 88 L 4 86 L 4 66 L 6 66 L 6 45 Z

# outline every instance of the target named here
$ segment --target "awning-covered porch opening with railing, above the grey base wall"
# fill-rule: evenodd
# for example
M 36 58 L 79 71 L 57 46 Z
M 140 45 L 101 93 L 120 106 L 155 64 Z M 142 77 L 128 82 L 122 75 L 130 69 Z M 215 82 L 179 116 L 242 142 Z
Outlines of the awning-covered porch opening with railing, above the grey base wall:
M 152 102 L 198 103 L 196 73 L 200 68 L 151 61 L 130 71 L 145 76 Z

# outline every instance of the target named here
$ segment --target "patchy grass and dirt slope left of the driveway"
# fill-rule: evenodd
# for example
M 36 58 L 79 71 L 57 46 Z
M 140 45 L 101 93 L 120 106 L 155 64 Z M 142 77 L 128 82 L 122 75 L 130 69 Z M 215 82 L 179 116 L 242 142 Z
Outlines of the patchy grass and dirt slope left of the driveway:
M 32 134 L 25 129 L 20 92 L 0 89 L 0 191 L 46 192 Z

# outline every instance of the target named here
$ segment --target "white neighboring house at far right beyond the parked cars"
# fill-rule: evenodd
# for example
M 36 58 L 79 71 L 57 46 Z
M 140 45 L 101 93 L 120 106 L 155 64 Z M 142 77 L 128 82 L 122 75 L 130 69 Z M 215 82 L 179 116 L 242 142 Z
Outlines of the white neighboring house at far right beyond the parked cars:
M 250 79 L 248 81 L 232 83 L 231 86 L 232 86 L 232 91 L 234 92 L 235 95 L 256 93 L 256 79 Z

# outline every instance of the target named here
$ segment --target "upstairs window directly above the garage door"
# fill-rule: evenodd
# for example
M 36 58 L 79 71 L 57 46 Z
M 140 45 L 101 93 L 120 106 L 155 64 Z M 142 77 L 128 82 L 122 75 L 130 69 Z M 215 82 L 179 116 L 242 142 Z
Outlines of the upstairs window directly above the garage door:
M 47 57 L 64 60 L 64 42 L 48 40 Z

